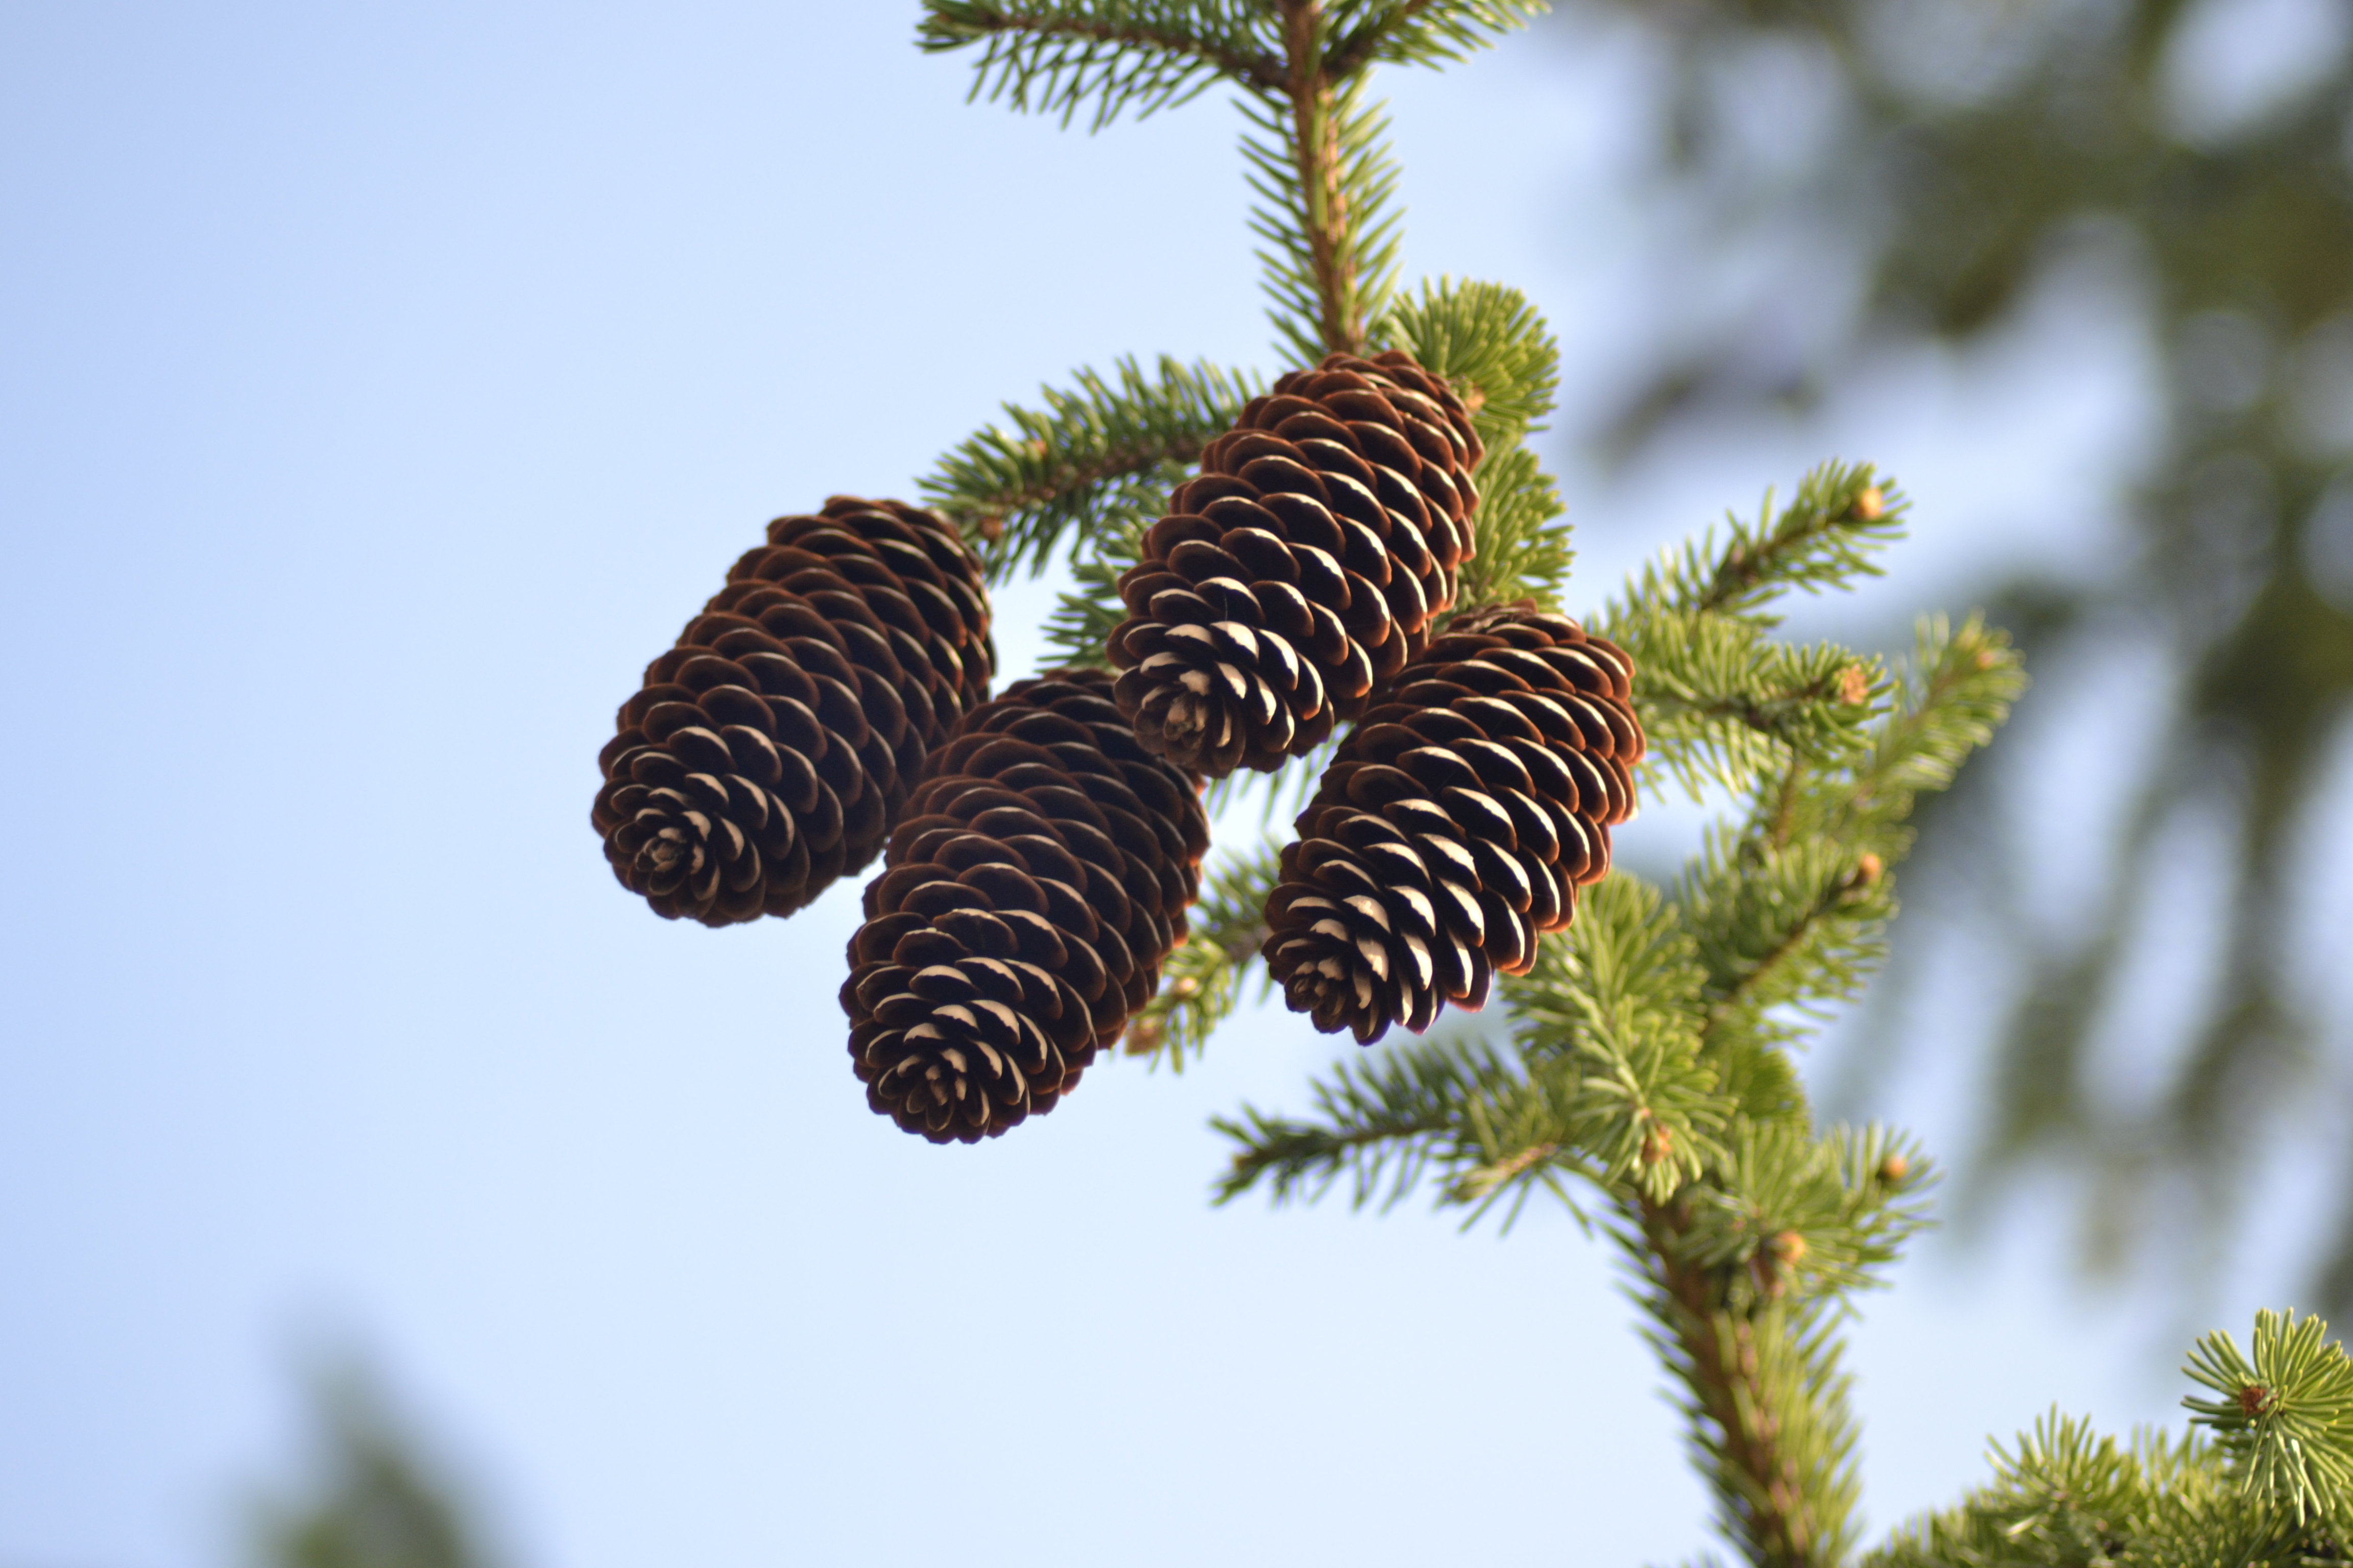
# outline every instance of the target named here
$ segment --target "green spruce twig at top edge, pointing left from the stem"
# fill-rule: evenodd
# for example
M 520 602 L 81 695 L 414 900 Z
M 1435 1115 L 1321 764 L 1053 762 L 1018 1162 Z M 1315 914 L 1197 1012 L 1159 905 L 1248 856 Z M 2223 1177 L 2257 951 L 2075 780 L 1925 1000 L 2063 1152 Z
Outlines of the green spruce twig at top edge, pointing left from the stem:
M 1219 78 L 1282 92 L 1282 56 L 1264 7 L 1235 0 L 925 0 L 915 42 L 927 54 L 981 47 L 972 99 L 1059 113 L 1064 125 L 1094 103 L 1104 129 L 1186 103 Z

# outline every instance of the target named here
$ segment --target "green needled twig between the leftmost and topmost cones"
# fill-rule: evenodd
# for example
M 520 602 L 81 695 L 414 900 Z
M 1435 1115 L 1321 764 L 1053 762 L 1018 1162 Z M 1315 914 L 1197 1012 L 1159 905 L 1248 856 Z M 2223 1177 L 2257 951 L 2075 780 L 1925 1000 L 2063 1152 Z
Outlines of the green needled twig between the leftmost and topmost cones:
M 1073 559 L 1118 559 L 1120 529 L 1160 515 L 1217 435 L 1261 383 L 1207 360 L 1160 355 L 1151 371 L 1120 360 L 1111 376 L 1080 369 L 1073 388 L 1040 388 L 1040 404 L 965 437 L 922 484 L 991 571 L 1042 571 L 1071 538 Z

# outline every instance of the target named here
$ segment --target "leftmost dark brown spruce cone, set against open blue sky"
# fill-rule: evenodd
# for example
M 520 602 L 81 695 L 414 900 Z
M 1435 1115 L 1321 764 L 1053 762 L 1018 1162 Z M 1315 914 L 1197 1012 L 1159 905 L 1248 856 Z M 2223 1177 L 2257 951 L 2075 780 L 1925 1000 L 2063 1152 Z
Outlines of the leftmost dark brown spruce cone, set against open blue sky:
M 666 919 L 800 910 L 873 860 L 993 670 L 981 567 L 939 512 L 779 517 L 621 705 L 591 811 L 614 877 Z

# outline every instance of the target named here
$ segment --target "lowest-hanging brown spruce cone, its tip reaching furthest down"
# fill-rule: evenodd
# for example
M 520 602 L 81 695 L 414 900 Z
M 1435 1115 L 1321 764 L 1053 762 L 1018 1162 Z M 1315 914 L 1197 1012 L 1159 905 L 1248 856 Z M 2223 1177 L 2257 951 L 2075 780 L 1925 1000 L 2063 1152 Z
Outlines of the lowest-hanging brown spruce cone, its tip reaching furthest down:
M 866 1103 L 932 1143 L 1054 1110 L 1160 987 L 1200 893 L 1200 776 L 1101 670 L 1014 682 L 941 748 L 849 938 Z

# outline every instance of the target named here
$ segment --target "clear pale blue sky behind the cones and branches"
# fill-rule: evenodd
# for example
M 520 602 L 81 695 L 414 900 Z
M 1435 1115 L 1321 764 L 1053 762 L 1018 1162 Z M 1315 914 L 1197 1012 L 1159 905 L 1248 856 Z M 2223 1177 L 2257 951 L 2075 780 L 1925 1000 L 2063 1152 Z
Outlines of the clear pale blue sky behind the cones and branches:
M 896 2 L 0 0 L 0 1568 L 226 1563 L 322 1345 L 388 1368 L 527 1568 L 1704 1547 L 1565 1215 L 1209 1211 L 1207 1117 L 1353 1046 L 1257 1011 L 932 1150 L 845 1060 L 854 882 L 720 933 L 612 884 L 612 710 L 767 517 L 908 496 L 1078 364 L 1275 367 L 1228 106 L 1089 139 L 967 108 L 911 35 Z M 1704 303 L 1657 268 L 1652 68 L 1548 28 L 1388 82 L 1409 275 L 1527 287 L 1572 409 Z M 1572 599 L 1833 454 L 1920 534 L 1814 623 L 2094 559 L 2151 416 L 2120 289 L 1607 484 L 1558 451 Z M 1049 602 L 1000 592 L 1009 675 Z M 2111 708 L 2089 750 L 2132 743 Z M 1958 1081 L 1894 1110 L 1953 1147 Z M 2184 1326 L 2012 1220 L 1868 1305 L 1880 1526 L 2054 1399 L 2179 1415 Z

